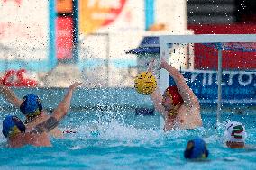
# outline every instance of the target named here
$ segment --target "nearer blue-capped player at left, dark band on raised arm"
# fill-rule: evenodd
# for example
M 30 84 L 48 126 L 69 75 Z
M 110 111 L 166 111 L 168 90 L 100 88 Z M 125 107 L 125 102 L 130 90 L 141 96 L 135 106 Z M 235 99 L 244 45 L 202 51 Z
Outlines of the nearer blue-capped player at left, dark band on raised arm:
M 70 85 L 67 94 L 50 117 L 35 126 L 23 124 L 17 116 L 6 116 L 3 121 L 3 134 L 8 139 L 8 146 L 11 148 L 19 148 L 24 145 L 51 146 L 48 132 L 56 128 L 59 121 L 69 112 L 73 92 L 79 85 L 81 84 Z

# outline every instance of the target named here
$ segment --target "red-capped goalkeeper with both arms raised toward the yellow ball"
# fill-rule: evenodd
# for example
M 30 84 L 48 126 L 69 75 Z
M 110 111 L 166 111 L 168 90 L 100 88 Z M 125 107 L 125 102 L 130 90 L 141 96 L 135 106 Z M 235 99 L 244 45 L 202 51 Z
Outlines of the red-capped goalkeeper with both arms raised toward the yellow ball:
M 148 71 L 152 72 L 154 60 L 151 60 Z M 160 68 L 169 72 L 176 85 L 169 86 L 164 93 L 160 89 L 151 94 L 155 109 L 164 119 L 164 130 L 173 128 L 194 129 L 202 126 L 200 105 L 197 96 L 188 87 L 185 78 L 175 67 L 161 59 Z

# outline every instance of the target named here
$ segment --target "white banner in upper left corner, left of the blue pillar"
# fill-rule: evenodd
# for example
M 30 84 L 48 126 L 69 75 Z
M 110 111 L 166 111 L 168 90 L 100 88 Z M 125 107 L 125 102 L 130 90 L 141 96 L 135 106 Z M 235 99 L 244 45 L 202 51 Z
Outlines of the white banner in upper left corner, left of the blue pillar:
M 48 58 L 48 1 L 0 1 L 0 12 L 1 60 Z

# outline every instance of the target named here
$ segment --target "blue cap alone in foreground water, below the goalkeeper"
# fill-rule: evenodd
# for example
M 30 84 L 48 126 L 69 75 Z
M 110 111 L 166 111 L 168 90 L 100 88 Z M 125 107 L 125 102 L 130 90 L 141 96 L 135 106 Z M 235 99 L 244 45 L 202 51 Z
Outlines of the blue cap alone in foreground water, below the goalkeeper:
M 187 142 L 187 148 L 184 151 L 185 158 L 206 158 L 208 155 L 209 151 L 203 139 L 197 138 Z

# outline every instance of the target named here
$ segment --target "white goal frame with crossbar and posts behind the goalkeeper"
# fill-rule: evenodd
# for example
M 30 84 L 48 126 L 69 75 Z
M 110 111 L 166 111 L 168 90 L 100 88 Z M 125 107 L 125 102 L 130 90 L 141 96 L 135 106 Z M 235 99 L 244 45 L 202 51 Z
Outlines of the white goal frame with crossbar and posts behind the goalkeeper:
M 221 101 L 222 101 L 222 43 L 228 42 L 256 42 L 256 34 L 198 34 L 198 35 L 160 35 L 160 58 L 171 58 L 169 55 L 169 44 L 188 44 L 188 43 L 216 43 L 218 50 L 218 100 L 217 100 L 217 123 L 220 120 Z M 169 85 L 169 74 L 166 70 L 160 70 L 160 92 Z M 162 120 L 161 120 L 162 121 Z M 161 125 L 163 123 L 161 122 Z

